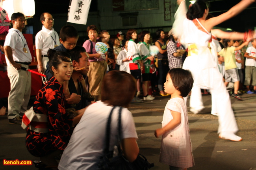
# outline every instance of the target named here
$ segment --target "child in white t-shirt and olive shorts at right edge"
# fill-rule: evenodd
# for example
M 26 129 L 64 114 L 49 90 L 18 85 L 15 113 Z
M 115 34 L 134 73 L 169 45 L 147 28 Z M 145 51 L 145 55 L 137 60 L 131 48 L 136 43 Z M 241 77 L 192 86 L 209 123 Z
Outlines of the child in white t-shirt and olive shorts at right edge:
M 252 46 L 247 48 L 244 57 L 245 60 L 245 86 L 247 94 L 256 94 L 256 38 L 251 40 Z M 252 80 L 252 83 L 250 83 Z M 254 92 L 250 91 L 250 85 Z

